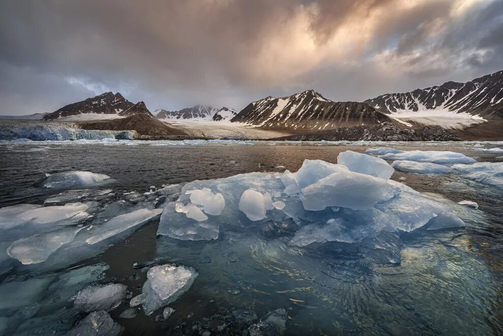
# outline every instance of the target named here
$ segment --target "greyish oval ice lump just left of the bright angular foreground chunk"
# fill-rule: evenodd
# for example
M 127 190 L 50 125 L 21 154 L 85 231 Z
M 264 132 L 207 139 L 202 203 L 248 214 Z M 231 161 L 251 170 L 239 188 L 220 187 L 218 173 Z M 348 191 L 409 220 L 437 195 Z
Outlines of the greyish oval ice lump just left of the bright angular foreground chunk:
M 119 307 L 119 304 L 127 295 L 128 287 L 122 284 L 108 284 L 88 286 L 72 297 L 72 300 L 80 310 L 111 311 Z

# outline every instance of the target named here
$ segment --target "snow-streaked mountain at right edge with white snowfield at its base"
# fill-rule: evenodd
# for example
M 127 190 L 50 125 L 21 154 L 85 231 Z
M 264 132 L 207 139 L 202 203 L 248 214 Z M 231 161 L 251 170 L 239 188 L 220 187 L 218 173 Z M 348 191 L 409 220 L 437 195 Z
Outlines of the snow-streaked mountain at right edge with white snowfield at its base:
M 503 71 L 466 83 L 447 82 L 401 94 L 386 94 L 365 103 L 394 116 L 479 116 L 503 118 Z

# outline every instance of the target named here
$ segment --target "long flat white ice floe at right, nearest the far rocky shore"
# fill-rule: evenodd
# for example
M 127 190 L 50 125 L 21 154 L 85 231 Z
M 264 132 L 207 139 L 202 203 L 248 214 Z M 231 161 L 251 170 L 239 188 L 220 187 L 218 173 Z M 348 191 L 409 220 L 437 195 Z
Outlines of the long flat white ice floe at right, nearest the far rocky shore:
M 401 153 L 388 153 L 379 156 L 384 160 L 406 160 L 416 162 L 431 162 L 437 164 L 455 164 L 463 163 L 470 164 L 476 163 L 472 158 L 468 158 L 461 153 L 453 151 L 436 151 L 436 150 L 410 150 Z

